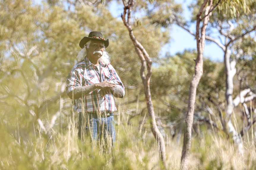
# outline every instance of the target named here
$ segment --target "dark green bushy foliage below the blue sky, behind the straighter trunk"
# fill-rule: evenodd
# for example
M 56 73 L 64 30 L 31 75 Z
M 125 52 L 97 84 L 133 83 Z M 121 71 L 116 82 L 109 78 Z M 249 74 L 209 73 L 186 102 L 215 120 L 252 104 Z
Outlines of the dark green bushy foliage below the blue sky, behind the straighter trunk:
M 196 56 L 196 51 L 184 51 L 182 54 L 179 53 L 172 57 L 162 58 L 158 65 L 153 68 L 154 74 L 151 81 L 152 96 L 156 96 L 155 98 L 159 98 L 159 96 L 164 97 L 166 96 L 165 94 L 175 96 L 171 100 L 173 102 L 172 105 L 180 108 L 176 110 L 176 114 L 172 113 L 176 116 L 177 114 L 181 116 L 182 112 L 185 111 L 181 110 L 187 104 L 188 89 L 194 73 L 194 59 Z M 197 88 L 197 94 L 201 100 L 197 101 L 198 105 L 201 105 L 203 101 L 203 103 L 209 103 L 209 96 L 224 102 L 225 73 L 223 64 L 204 58 L 203 69 L 204 73 Z M 162 110 L 160 112 L 165 115 L 164 112 L 166 111 Z

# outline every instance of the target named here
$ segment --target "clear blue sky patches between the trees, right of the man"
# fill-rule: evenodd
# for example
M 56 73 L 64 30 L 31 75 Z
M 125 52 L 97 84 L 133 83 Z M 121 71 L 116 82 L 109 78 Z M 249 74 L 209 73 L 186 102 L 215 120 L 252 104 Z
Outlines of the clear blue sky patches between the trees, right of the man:
M 187 6 L 192 0 L 183 0 L 184 15 L 189 18 L 189 12 Z M 180 1 L 179 1 L 180 3 Z M 121 13 L 123 12 L 123 6 L 119 6 L 116 2 L 112 2 L 110 5 L 113 17 L 121 18 Z M 195 28 L 191 28 L 195 30 Z M 196 50 L 196 40 L 195 37 L 188 33 L 186 30 L 182 29 L 177 25 L 172 26 L 170 31 L 171 40 L 170 43 L 162 48 L 163 51 L 168 52 L 170 55 L 175 55 L 176 53 L 182 53 L 185 49 L 195 49 Z M 210 58 L 212 61 L 223 61 L 224 52 L 215 43 L 206 42 L 204 54 L 205 57 Z

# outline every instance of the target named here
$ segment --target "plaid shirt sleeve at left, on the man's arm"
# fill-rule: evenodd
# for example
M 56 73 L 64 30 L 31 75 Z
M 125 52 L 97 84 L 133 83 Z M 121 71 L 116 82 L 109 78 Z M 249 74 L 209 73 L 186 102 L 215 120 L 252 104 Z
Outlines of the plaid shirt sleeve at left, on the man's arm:
M 75 88 L 82 86 L 82 79 L 80 78 L 80 74 L 77 70 L 72 69 L 67 76 L 67 86 L 66 92 L 67 95 L 74 90 Z

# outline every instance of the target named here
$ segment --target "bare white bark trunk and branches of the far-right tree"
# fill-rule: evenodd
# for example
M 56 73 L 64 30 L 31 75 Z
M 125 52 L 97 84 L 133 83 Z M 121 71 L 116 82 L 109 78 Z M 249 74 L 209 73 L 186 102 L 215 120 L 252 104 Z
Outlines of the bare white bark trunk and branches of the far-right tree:
M 190 34 L 195 36 L 195 34 L 192 31 L 187 29 L 178 20 L 176 20 L 176 22 L 177 22 L 177 25 L 179 25 L 184 30 L 187 30 Z M 248 35 L 250 32 L 255 30 L 255 27 L 253 27 L 251 30 L 246 30 L 243 34 L 241 34 L 237 37 L 234 37 L 234 36 L 230 35 L 231 31 L 234 29 L 234 25 L 230 21 L 228 21 L 227 23 L 230 26 L 229 30 L 227 30 L 227 32 L 223 32 L 223 30 L 222 30 L 223 23 L 221 21 L 219 21 L 219 33 L 221 35 L 225 36 L 224 44 L 222 44 L 217 39 L 212 38 L 208 35 L 206 35 L 206 39 L 216 43 L 225 53 L 224 54 L 224 64 L 225 64 L 225 73 L 226 73 L 226 92 L 225 92 L 226 124 L 223 124 L 223 126 L 225 127 L 225 129 L 227 130 L 228 133 L 232 134 L 233 141 L 236 144 L 238 144 L 239 148 L 242 148 L 242 146 L 241 146 L 242 142 L 239 137 L 239 133 L 234 128 L 233 123 L 230 120 L 230 116 L 233 113 L 234 107 L 238 106 L 239 103 L 248 102 L 248 101 L 252 100 L 253 98 L 255 98 L 256 96 L 254 93 L 251 92 L 250 89 L 245 89 L 245 90 L 242 90 L 241 93 L 233 100 L 233 96 L 232 96 L 233 95 L 233 78 L 236 75 L 236 60 L 241 57 L 241 55 L 243 54 L 243 51 L 241 49 L 238 49 L 237 51 L 235 51 L 235 52 L 237 52 L 235 59 L 232 59 L 230 61 L 230 56 L 231 56 L 232 52 L 234 53 L 234 50 L 231 51 L 230 48 L 232 47 L 234 41 L 241 39 L 241 37 L 243 37 L 245 35 Z M 247 95 L 249 95 L 249 96 L 247 96 Z

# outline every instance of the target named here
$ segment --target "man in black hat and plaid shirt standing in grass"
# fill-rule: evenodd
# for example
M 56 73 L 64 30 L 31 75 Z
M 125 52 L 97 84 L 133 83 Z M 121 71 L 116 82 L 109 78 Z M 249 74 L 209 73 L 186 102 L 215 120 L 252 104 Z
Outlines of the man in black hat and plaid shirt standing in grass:
M 113 145 L 116 138 L 114 97 L 123 98 L 125 92 L 110 64 L 110 55 L 105 51 L 108 45 L 108 39 L 97 31 L 80 41 L 79 62 L 67 76 L 66 91 L 72 99 L 73 109 L 79 112 L 78 138 L 82 140 L 90 136 L 96 144 L 99 137 L 104 137 L 105 142 L 108 140 Z

